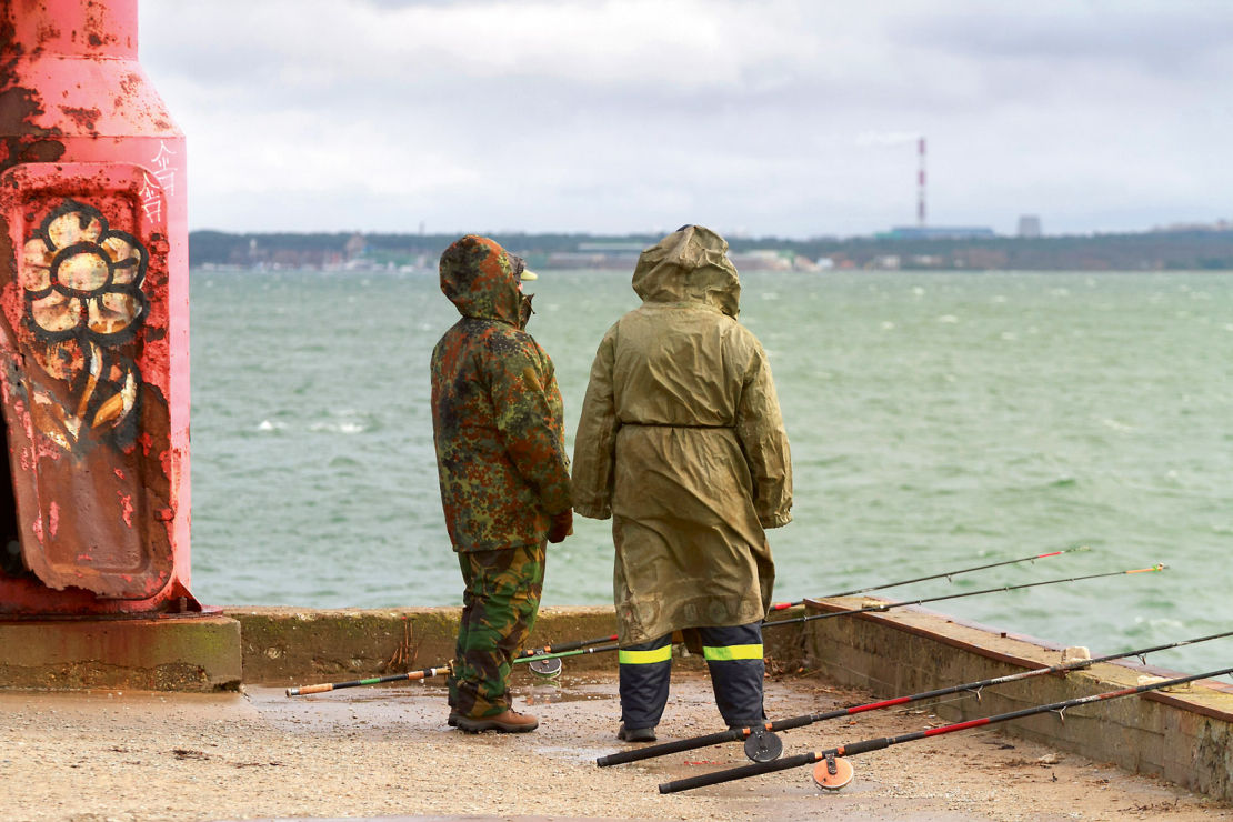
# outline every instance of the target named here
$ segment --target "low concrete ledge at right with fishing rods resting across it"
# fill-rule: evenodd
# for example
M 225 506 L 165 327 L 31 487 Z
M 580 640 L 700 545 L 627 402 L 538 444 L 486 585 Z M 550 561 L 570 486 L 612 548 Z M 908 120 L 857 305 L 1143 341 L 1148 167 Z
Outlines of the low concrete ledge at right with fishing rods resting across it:
M 814 601 L 845 610 L 866 599 Z M 806 624 L 810 664 L 834 679 L 882 696 L 900 696 L 958 683 L 1039 669 L 1062 662 L 1060 647 L 965 624 L 924 609 L 816 620 Z M 1058 702 L 1138 684 L 1141 674 L 1174 672 L 1105 663 L 1065 677 L 1046 675 L 986 689 L 981 700 L 930 706 L 963 721 Z M 1128 770 L 1155 774 L 1190 790 L 1233 800 L 1233 693 L 1221 683 L 1194 683 L 1065 714 L 1039 715 L 1000 727 L 1007 733 L 1070 751 Z

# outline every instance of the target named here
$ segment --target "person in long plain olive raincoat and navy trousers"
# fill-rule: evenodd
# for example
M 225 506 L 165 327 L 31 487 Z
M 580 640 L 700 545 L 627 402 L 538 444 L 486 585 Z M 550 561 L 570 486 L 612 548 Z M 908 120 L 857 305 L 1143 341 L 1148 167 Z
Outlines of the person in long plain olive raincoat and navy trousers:
M 578 421 L 575 511 L 613 518 L 621 739 L 655 739 L 684 629 L 702 635 L 727 725 L 763 717 L 764 529 L 792 521 L 792 461 L 726 251 L 698 226 L 642 251 L 642 306 L 599 344 Z

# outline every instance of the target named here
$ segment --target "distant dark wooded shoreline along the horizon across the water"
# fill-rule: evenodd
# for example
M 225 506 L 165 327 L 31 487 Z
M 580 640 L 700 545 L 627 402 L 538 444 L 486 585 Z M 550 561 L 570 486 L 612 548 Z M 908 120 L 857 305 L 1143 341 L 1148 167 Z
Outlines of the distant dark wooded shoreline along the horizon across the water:
M 651 245 L 651 234 L 493 234 L 507 249 L 543 265 L 581 244 Z M 192 232 L 190 261 L 200 266 L 333 267 L 354 260 L 435 267 L 456 234 L 229 234 Z M 735 253 L 777 249 L 836 269 L 967 269 L 1033 271 L 1233 270 L 1233 232 L 1181 230 L 1089 237 L 895 239 L 763 237 L 730 239 Z

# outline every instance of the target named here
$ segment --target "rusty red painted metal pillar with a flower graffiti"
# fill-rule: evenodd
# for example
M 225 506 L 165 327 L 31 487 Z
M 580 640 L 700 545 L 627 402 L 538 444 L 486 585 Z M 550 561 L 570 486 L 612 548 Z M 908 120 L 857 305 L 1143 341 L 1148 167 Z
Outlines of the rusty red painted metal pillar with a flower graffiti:
M 137 0 L 0 0 L 0 614 L 199 608 L 185 170 Z

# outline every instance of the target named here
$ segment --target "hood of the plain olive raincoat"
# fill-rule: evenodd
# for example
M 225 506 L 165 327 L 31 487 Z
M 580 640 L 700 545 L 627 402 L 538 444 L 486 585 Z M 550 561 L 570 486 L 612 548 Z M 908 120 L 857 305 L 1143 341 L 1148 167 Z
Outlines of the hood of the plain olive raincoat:
M 700 302 L 734 319 L 740 313 L 741 282 L 727 242 L 702 226 L 686 226 L 642 251 L 634 291 L 644 302 Z

